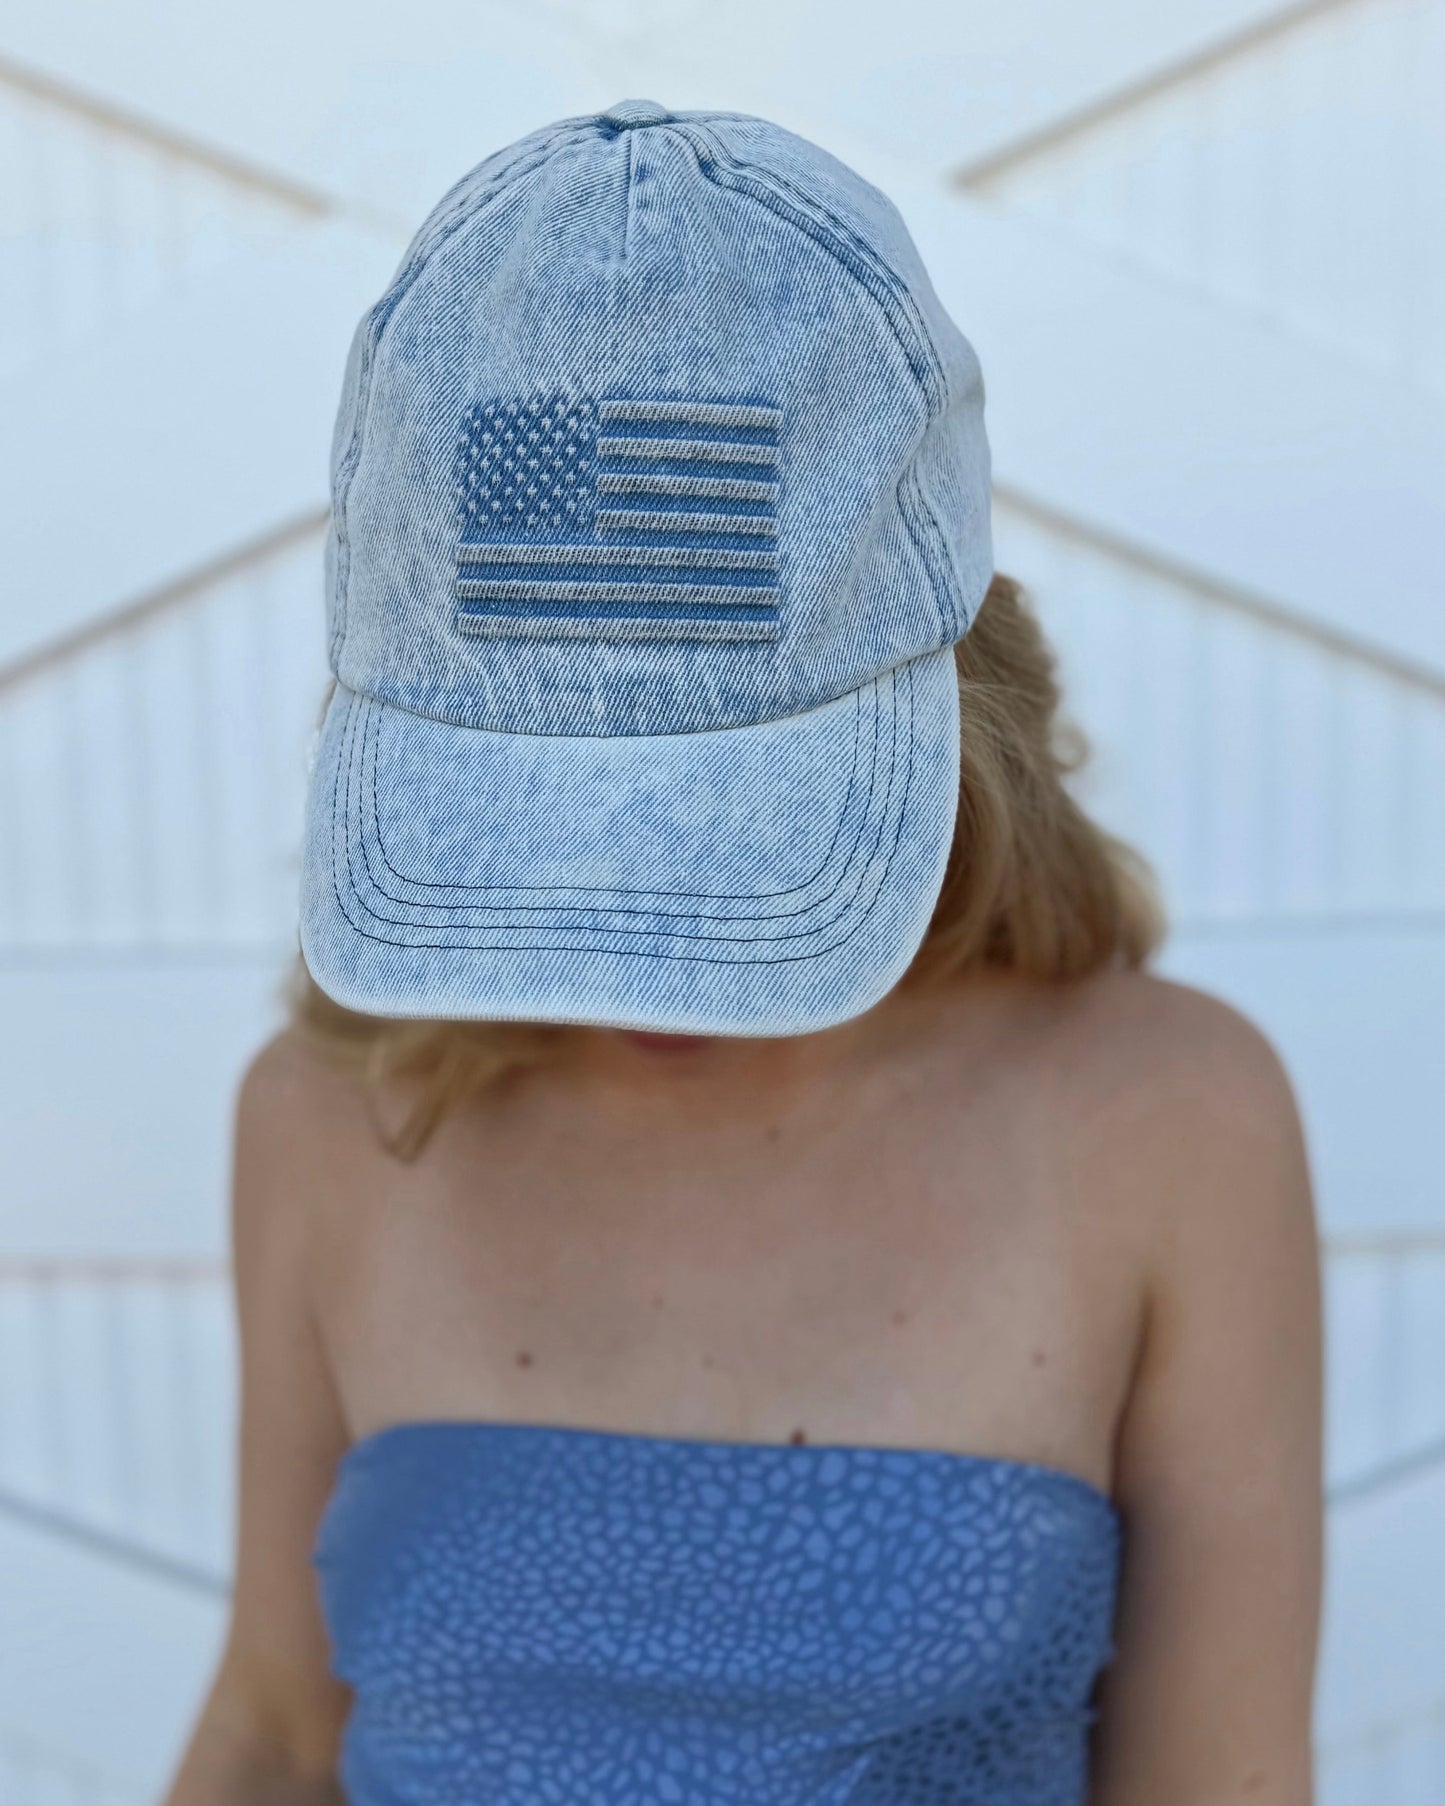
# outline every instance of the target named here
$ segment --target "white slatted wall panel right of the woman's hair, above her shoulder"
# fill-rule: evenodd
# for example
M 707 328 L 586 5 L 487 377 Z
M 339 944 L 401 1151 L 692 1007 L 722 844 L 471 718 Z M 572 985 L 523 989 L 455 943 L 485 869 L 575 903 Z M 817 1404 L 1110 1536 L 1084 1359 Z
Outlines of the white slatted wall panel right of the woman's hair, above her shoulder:
M 1084 796 L 1154 860 L 1179 923 L 1445 910 L 1445 688 L 995 506 L 1066 703 Z

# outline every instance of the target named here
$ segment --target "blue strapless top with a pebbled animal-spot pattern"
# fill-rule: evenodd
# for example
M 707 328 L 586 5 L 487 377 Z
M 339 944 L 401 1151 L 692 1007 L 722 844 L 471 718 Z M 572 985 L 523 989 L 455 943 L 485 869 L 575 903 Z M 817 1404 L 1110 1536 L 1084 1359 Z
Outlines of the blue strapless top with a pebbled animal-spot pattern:
M 314 1562 L 352 1806 L 1080 1806 L 1120 1519 L 943 1450 L 401 1423 Z

